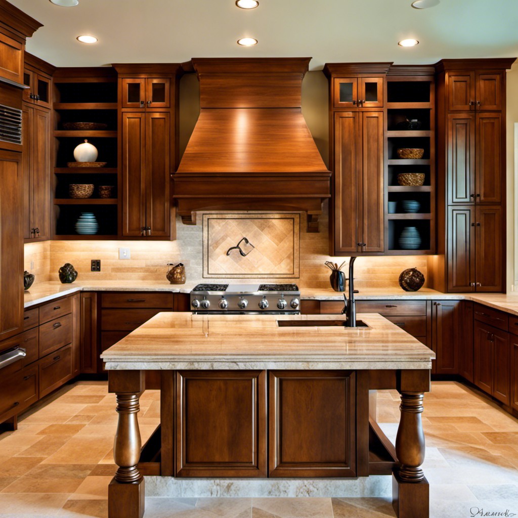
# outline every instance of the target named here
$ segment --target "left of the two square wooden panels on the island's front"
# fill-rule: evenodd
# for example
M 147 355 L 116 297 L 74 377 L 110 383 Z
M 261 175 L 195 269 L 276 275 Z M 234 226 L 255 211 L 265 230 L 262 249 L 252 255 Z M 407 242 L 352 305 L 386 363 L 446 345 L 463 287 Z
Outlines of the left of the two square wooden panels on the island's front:
M 176 476 L 266 476 L 266 372 L 178 371 Z

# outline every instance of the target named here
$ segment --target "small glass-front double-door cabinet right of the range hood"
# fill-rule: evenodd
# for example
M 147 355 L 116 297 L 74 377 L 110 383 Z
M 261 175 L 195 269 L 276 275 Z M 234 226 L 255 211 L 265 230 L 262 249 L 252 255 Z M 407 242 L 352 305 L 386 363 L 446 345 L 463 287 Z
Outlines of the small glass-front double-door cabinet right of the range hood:
M 333 79 L 335 108 L 382 108 L 383 77 L 336 77 Z

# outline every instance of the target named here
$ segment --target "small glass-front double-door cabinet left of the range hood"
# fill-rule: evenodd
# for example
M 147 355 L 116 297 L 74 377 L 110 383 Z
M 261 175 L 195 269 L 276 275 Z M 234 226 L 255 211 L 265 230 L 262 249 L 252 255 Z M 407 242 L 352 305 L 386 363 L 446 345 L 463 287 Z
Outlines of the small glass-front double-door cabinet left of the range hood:
M 123 78 L 121 94 L 123 108 L 169 108 L 170 79 L 165 78 Z

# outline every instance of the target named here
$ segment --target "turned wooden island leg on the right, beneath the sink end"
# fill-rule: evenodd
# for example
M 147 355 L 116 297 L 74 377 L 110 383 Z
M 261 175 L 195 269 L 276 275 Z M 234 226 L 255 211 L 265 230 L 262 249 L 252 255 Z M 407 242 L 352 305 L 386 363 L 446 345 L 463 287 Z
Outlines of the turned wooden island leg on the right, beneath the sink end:
M 418 375 L 415 388 L 429 387 L 428 379 Z M 408 380 L 407 380 L 408 381 Z M 403 385 L 403 386 L 401 386 Z M 399 467 L 392 474 L 392 505 L 399 518 L 428 518 L 429 485 L 421 464 L 424 461 L 425 442 L 421 414 L 423 413 L 423 392 L 411 392 L 409 383 L 398 387 L 401 395 L 401 417 L 396 436 L 396 455 Z M 405 388 L 406 390 L 402 390 Z

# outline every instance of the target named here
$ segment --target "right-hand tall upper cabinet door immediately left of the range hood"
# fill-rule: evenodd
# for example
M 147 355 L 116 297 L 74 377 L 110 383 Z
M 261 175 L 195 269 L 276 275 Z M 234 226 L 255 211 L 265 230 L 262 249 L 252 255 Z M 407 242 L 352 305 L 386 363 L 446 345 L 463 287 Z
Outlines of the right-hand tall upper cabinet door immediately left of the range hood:
M 171 233 L 170 113 L 146 114 L 146 225 L 151 236 Z

